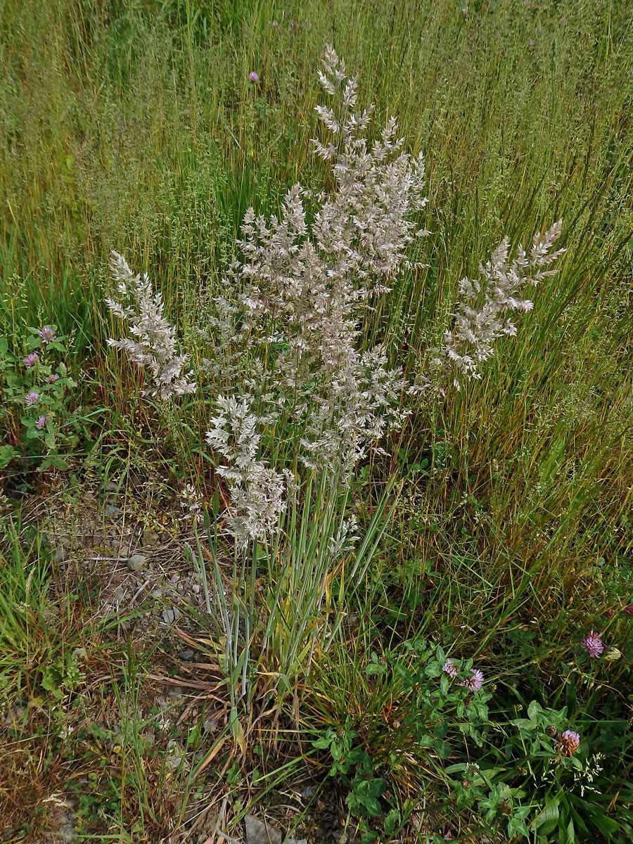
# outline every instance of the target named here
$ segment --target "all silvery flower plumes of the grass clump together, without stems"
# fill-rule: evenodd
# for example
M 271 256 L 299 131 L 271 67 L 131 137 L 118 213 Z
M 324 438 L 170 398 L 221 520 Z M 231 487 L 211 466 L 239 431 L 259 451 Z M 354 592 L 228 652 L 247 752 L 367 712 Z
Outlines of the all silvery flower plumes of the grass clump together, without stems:
M 258 80 L 256 75 L 250 74 L 251 81 Z M 421 387 L 410 385 L 398 367 L 390 368 L 381 346 L 362 349 L 359 338 L 360 320 L 372 300 L 387 295 L 398 273 L 412 266 L 409 255 L 428 234 L 419 223 L 427 203 L 425 165 L 421 153 L 403 149 L 393 117 L 380 139 L 368 137 L 374 107 L 357 110 L 358 78 L 347 73 L 331 46 L 318 75 L 331 103 L 317 106 L 328 137 L 314 138 L 313 145 L 330 169 L 332 187 L 315 196 L 296 184 L 279 217 L 257 216 L 252 208 L 246 212 L 239 257 L 227 273 L 225 294 L 213 300 L 203 336 L 214 347 L 206 368 L 218 391 L 227 396 L 244 392 L 242 381 L 246 398 L 240 398 L 240 407 L 246 402 L 257 408 L 257 425 L 289 425 L 296 432 L 295 459 L 346 483 L 367 451 L 376 450 L 388 430 L 403 425 L 410 412 L 407 393 L 424 392 L 433 377 L 423 376 Z M 311 204 L 311 223 L 306 203 Z M 543 238 L 537 235 L 527 253 L 519 247 L 513 262 L 509 242 L 502 241 L 481 267 L 480 282 L 463 279 L 453 327 L 434 360 L 441 372 L 452 373 L 457 386 L 458 376 L 479 377 L 478 364 L 490 357 L 496 339 L 516 333 L 506 313 L 532 307 L 523 288 L 554 272 L 552 264 L 564 251 L 551 251 L 560 229 L 559 222 Z M 194 392 L 192 372 L 183 374 L 187 355 L 176 353 L 175 328 L 163 316 L 160 293 L 154 294 L 147 275 L 133 276 L 116 253 L 112 272 L 120 297 L 131 293 L 134 306 L 113 299 L 107 304 L 129 322 L 133 336 L 109 344 L 149 368 L 151 395 Z M 228 392 L 227 379 L 232 381 Z M 238 406 L 228 398 L 220 405 L 223 414 Z M 207 441 L 217 444 L 213 432 Z M 232 459 L 249 467 L 249 479 L 244 467 L 240 479 L 235 468 L 221 469 L 230 482 L 231 529 L 253 538 L 272 526 L 281 487 L 273 492 L 275 473 L 264 471 L 246 437 L 235 447 L 245 449 Z M 242 531 L 237 529 L 240 518 Z

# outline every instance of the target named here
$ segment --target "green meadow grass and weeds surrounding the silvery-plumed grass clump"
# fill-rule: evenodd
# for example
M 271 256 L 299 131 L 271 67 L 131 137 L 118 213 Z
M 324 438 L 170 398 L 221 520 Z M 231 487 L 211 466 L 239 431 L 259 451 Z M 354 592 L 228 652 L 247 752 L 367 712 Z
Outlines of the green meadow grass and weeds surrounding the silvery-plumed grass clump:
M 295 181 L 320 183 L 310 138 L 327 42 L 359 73 L 376 125 L 397 115 L 428 172 L 427 266 L 400 275 L 365 320 L 367 343 L 385 342 L 412 374 L 451 322 L 458 280 L 503 235 L 525 244 L 562 217 L 567 252 L 483 379 L 414 414 L 391 457 L 354 478 L 370 516 L 387 478 L 400 492 L 325 663 L 246 744 L 228 733 L 209 743 L 200 714 L 182 742 L 203 755 L 174 768 L 173 737 L 150 747 L 131 727 L 116 744 L 96 715 L 103 736 L 89 724 L 64 732 L 69 711 L 96 706 L 84 690 L 93 672 L 110 678 L 99 705 L 133 712 L 161 646 L 137 652 L 116 623 L 95 623 L 98 588 L 75 583 L 66 603 L 57 589 L 51 618 L 61 564 L 32 514 L 46 496 L 81 507 L 112 478 L 127 489 L 134 472 L 160 479 L 160 507 L 187 482 L 210 505 L 197 446 L 214 396 L 187 398 L 189 437 L 138 400 L 138 371 L 106 344 L 109 256 L 149 272 L 202 357 L 200 293 L 218 288 L 246 208 L 277 213 Z M 631 840 L 630 5 L 0 0 L 0 65 L 0 403 L 12 449 L 0 470 L 0 838 L 219 841 L 219 820 L 196 838 L 187 814 L 212 804 L 237 838 L 246 812 L 266 807 L 314 841 L 342 830 L 350 841 Z M 37 472 L 5 376 L 44 324 L 67 338 L 77 386 L 63 410 L 68 468 Z M 582 650 L 590 629 L 603 635 L 598 661 Z M 414 672 L 402 646 L 421 636 L 475 658 L 491 695 L 485 717 L 454 701 L 428 716 L 430 743 L 414 696 L 398 708 Z M 512 724 L 520 717 L 529 723 Z M 560 787 L 544 762 L 553 723 L 589 742 Z M 474 761 L 488 781 L 464 773 Z M 279 793 L 306 771 L 315 797 L 286 816 Z

